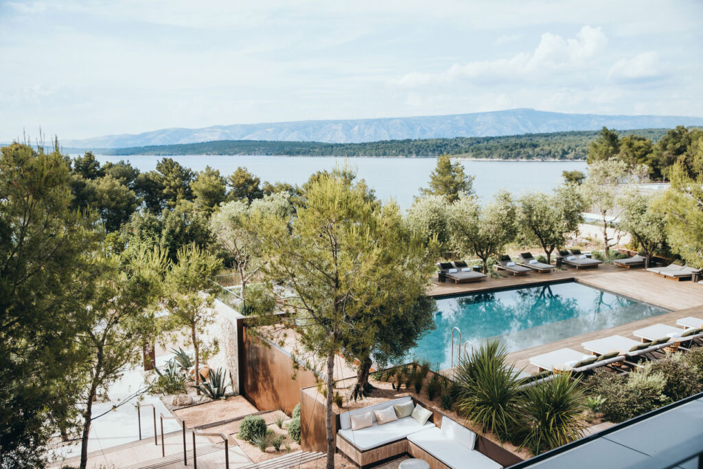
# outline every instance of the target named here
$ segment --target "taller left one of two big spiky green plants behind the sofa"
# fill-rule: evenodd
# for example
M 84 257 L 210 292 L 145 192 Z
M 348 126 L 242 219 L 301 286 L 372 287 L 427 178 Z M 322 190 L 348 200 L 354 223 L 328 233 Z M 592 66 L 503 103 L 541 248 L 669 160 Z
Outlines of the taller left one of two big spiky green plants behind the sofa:
M 503 441 L 514 436 L 521 402 L 520 380 L 505 355 L 503 345 L 489 341 L 463 357 L 454 374 L 459 386 L 455 409 Z

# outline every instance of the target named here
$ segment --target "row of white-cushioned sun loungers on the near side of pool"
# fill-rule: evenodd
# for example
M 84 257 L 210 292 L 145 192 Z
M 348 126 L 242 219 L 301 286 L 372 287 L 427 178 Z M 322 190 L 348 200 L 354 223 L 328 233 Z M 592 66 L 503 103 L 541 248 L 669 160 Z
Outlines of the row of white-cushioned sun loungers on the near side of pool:
M 647 359 L 661 355 L 663 350 L 689 350 L 690 344 L 703 340 L 703 319 L 685 317 L 676 322 L 679 327 L 667 324 L 654 324 L 633 331 L 636 341 L 623 336 L 609 336 L 594 341 L 586 341 L 581 346 L 592 352 L 586 355 L 572 348 L 560 348 L 536 357 L 529 362 L 539 371 L 572 371 L 583 373 L 600 366 L 610 366 L 623 371 L 623 366 L 634 368 Z

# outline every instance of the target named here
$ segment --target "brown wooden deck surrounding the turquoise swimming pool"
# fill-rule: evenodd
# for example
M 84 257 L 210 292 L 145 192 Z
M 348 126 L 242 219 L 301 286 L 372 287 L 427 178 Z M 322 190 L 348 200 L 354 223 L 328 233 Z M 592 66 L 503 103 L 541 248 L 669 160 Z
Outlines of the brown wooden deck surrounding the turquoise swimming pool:
M 529 357 L 557 350 L 559 348 L 573 348 L 588 354 L 581 343 L 595 338 L 621 336 L 635 338 L 632 331 L 662 323 L 676 325 L 676 320 L 682 317 L 693 316 L 703 319 L 703 286 L 692 282 L 673 282 L 669 279 L 657 277 L 643 269 L 624 269 L 617 265 L 600 265 L 596 268 L 576 270 L 567 267 L 567 270 L 555 270 L 549 274 L 530 272 L 527 275 L 501 277 L 500 279 L 486 279 L 482 282 L 470 284 L 444 284 L 433 279 L 430 296 L 441 298 L 443 296 L 460 295 L 464 293 L 479 293 L 498 289 L 508 289 L 538 285 L 550 282 L 576 281 L 589 286 L 617 293 L 621 296 L 640 300 L 651 305 L 670 310 L 663 315 L 642 319 L 636 322 L 621 324 L 609 329 L 594 330 L 580 336 L 565 338 L 560 341 L 546 343 L 538 347 L 528 348 L 508 355 L 510 362 L 515 362 L 518 369 L 524 368 L 528 373 L 536 373 L 537 368 L 529 364 Z M 445 370 L 451 374 L 451 370 Z

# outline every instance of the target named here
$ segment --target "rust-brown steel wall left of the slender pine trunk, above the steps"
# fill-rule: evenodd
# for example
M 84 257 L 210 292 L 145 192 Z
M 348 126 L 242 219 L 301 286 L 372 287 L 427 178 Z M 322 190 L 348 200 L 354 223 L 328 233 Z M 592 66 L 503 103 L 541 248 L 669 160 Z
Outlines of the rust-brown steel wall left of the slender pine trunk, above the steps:
M 315 385 L 315 376 L 306 369 L 295 370 L 288 353 L 247 335 L 245 325 L 240 330 L 240 392 L 260 411 L 282 410 L 290 415 L 300 402 L 300 389 Z

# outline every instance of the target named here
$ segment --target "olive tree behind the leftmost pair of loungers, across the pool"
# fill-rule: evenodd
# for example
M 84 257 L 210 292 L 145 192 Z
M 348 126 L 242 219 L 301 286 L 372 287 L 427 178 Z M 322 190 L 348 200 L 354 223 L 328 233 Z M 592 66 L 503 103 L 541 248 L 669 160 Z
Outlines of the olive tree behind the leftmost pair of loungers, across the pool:
M 460 197 L 449 206 L 451 244 L 461 255 L 475 254 L 488 272 L 488 258 L 497 256 L 517 234 L 517 210 L 507 191 L 498 192 L 486 205 Z

